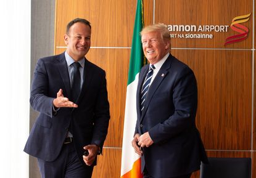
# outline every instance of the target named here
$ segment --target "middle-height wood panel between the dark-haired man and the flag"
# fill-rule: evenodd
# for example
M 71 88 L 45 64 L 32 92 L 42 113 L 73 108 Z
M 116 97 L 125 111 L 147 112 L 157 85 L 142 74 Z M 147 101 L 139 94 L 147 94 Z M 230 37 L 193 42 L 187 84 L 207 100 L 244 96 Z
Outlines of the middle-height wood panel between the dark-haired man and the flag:
M 56 50 L 57 54 L 63 51 Z M 122 147 L 130 49 L 90 49 L 86 58 L 106 72 L 110 123 L 104 147 Z

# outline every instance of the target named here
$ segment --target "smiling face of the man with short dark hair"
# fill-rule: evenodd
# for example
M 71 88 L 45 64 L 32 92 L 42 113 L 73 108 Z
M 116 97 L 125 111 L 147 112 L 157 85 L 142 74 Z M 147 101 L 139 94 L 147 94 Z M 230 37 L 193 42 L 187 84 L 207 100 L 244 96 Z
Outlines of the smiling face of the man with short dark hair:
M 91 28 L 84 23 L 74 23 L 64 35 L 67 53 L 76 62 L 83 59 L 91 47 Z

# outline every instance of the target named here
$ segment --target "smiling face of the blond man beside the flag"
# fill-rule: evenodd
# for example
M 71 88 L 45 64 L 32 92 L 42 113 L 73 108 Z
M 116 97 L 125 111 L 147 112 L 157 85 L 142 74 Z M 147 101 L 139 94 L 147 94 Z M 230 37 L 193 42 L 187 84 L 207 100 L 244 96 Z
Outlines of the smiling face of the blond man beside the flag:
M 150 31 L 141 36 L 144 55 L 151 64 L 159 62 L 170 50 L 170 41 L 164 40 L 159 31 Z

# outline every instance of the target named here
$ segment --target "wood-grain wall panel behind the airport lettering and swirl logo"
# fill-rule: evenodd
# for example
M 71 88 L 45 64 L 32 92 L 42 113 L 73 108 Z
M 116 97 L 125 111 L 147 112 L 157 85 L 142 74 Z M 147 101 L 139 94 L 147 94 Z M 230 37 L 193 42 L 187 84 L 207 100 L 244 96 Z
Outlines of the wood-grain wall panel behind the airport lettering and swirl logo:
M 155 23 L 167 25 L 231 25 L 234 17 L 252 12 L 252 1 L 240 0 L 155 0 Z M 228 32 L 184 32 L 213 34 L 212 39 L 173 38 L 173 47 L 200 47 L 200 48 L 252 48 L 252 14 L 250 20 L 242 23 L 249 28 L 246 40 L 224 46 L 225 39 L 239 34 L 231 28 Z M 184 34 L 183 32 L 172 32 Z

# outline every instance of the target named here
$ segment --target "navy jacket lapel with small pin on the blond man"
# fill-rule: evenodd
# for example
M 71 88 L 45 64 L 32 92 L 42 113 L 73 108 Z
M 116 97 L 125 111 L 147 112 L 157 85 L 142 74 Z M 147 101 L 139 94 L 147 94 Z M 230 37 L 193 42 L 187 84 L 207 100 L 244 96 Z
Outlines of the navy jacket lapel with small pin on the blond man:
M 163 79 L 168 74 L 168 69 L 170 67 L 171 67 L 171 55 L 169 55 L 167 60 L 165 60 L 162 67 L 160 68 L 159 72 L 155 76 L 154 81 L 152 81 L 151 86 L 149 87 L 149 90 L 147 91 L 147 96 L 146 96 L 146 100 L 145 100 L 145 104 L 144 104 L 144 109 L 142 110 L 142 113 L 141 113 L 141 120 L 144 118 L 144 115 L 147 111 L 147 108 L 149 107 L 149 103 L 151 102 L 155 91 L 157 91 L 157 88 L 160 86 Z

